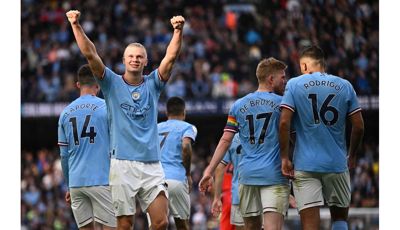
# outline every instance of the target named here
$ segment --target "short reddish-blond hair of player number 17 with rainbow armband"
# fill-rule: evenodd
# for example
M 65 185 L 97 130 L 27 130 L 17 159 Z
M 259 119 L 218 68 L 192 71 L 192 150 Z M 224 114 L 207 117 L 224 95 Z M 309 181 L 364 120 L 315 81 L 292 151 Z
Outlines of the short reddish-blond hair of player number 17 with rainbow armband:
M 264 83 L 267 81 L 267 77 L 275 75 L 276 71 L 280 69 L 286 69 L 288 66 L 282 61 L 276 60 L 273 57 L 263 59 L 258 63 L 256 76 L 258 83 Z

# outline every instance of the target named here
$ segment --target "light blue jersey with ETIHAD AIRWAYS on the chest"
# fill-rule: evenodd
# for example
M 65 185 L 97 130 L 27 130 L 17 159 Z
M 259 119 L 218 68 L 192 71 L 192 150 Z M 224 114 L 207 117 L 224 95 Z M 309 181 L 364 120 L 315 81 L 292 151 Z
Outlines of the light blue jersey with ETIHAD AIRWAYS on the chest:
M 142 76 L 142 81 L 136 85 L 107 67 L 104 67 L 102 80 L 96 76 L 95 79 L 106 99 L 111 157 L 159 161 L 158 99 L 166 82 L 161 81 L 158 69 Z

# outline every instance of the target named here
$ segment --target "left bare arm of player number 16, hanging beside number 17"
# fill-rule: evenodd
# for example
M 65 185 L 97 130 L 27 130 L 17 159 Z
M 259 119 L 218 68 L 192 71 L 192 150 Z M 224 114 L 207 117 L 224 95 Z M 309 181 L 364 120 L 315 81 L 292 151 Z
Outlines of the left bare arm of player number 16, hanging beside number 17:
M 279 145 L 280 158 L 282 160 L 281 170 L 287 179 L 294 179 L 293 164 L 289 159 L 289 140 L 290 140 L 290 119 L 293 112 L 287 108 L 282 108 L 279 120 Z

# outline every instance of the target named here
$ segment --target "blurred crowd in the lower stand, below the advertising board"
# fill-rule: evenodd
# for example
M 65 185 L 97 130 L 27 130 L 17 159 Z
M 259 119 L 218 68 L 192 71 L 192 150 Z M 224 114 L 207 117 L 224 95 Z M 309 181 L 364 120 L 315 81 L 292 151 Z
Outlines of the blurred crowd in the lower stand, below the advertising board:
M 211 193 L 206 193 L 205 197 L 201 197 L 198 191 L 198 183 L 211 160 L 216 145 L 216 142 L 206 144 L 204 139 L 200 139 L 193 146 L 191 166 L 193 190 L 190 193 L 190 229 L 192 230 L 219 229 L 218 219 L 211 214 L 214 197 Z M 351 208 L 379 206 L 379 143 L 372 136 L 366 136 L 363 139 L 357 153 L 356 168 L 350 172 L 350 183 Z M 65 193 L 66 184 L 62 175 L 58 146 L 54 146 L 53 149 L 39 149 L 36 152 L 21 151 L 22 230 L 78 229 L 70 204 L 64 199 Z M 134 229 L 146 229 L 147 219 L 138 202 L 136 210 Z M 349 218 L 349 228 L 364 229 L 360 228 L 360 225 L 366 225 L 366 220 L 362 218 L 362 216 L 357 219 Z M 331 227 L 330 222 L 326 222 L 328 227 Z M 170 218 L 170 223 L 173 223 L 173 218 Z M 284 224 L 296 223 L 284 222 Z M 174 229 L 173 224 L 170 224 L 168 229 Z

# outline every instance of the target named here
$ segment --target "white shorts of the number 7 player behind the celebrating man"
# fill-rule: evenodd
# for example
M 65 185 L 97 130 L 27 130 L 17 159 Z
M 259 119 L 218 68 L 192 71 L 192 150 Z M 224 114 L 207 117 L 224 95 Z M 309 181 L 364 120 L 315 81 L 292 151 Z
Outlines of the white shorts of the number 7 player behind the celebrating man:
M 189 185 L 183 181 L 166 179 L 168 184 L 168 207 L 174 218 L 189 220 L 190 196 Z

